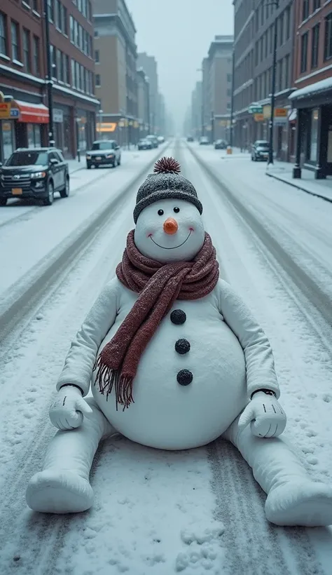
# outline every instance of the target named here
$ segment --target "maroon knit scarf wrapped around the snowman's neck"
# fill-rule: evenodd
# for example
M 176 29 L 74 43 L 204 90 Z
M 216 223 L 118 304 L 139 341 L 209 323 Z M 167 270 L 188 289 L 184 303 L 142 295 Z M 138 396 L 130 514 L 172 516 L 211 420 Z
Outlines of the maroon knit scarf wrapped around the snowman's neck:
M 202 249 L 191 262 L 162 264 L 137 250 L 134 230 L 127 236 L 123 260 L 116 275 L 129 290 L 139 293 L 132 309 L 118 331 L 99 354 L 94 371 L 99 391 L 106 399 L 113 386 L 116 409 L 123 411 L 133 403 L 132 384 L 139 359 L 162 318 L 176 299 L 200 299 L 208 295 L 218 282 L 219 263 L 209 234 L 205 234 Z

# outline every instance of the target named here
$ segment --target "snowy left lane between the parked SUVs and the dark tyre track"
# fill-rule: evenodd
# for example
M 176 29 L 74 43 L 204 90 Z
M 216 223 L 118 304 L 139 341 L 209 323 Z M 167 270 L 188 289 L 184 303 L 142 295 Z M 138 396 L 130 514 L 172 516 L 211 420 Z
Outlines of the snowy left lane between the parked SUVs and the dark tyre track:
M 159 151 L 160 153 L 160 151 Z M 57 199 L 48 208 L 8 205 L 0 209 L 0 293 L 17 283 L 22 276 L 50 256 L 51 250 L 86 225 L 103 205 L 127 187 L 158 152 L 127 152 L 123 165 L 115 170 L 79 170 L 71 176 L 71 195 Z M 23 210 L 22 215 L 20 211 Z M 2 222 L 1 215 L 17 216 Z

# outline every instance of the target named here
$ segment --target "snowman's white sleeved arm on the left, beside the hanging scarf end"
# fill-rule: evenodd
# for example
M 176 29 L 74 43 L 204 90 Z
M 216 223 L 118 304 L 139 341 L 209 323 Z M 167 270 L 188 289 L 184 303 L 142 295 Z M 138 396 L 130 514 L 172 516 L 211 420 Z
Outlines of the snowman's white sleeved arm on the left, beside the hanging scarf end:
M 111 329 L 120 300 L 120 282 L 113 278 L 106 284 L 85 318 L 67 354 L 64 368 L 57 382 L 57 391 L 65 384 L 75 385 L 87 395 L 97 351 Z

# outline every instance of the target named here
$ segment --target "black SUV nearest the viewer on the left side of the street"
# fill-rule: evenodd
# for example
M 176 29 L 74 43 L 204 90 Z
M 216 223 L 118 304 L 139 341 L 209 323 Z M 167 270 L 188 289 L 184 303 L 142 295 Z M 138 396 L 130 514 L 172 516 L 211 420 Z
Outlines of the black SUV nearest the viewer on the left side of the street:
M 0 205 L 8 198 L 31 198 L 51 205 L 55 191 L 69 196 L 69 168 L 55 148 L 18 148 L 0 164 Z

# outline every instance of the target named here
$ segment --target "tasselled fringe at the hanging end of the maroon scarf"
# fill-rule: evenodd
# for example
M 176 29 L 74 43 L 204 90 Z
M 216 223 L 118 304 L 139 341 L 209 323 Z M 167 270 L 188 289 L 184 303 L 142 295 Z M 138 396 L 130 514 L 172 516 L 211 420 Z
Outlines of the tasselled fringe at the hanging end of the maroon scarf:
M 118 405 L 123 405 L 123 412 L 134 403 L 134 398 L 132 397 L 132 384 L 134 378 L 128 375 L 120 374 L 118 370 L 113 370 L 111 367 L 102 363 L 102 358 L 99 356 L 93 370 L 97 370 L 95 377 L 95 384 L 98 381 L 99 391 L 102 395 L 106 391 L 106 401 L 109 399 L 113 388 L 116 392 L 116 411 L 118 411 Z

